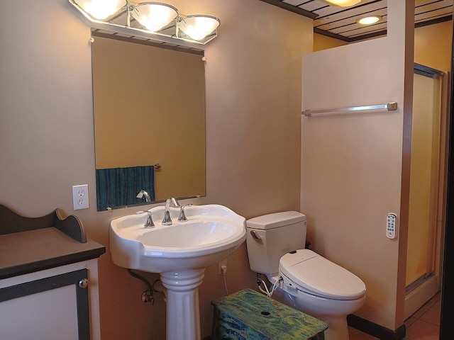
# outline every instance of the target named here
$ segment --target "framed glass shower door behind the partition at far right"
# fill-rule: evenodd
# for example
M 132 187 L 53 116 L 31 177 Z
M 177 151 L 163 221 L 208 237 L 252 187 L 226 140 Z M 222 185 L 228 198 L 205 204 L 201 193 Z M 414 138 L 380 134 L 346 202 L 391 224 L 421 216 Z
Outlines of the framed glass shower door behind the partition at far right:
M 415 64 L 405 317 L 440 290 L 445 191 L 445 74 Z

